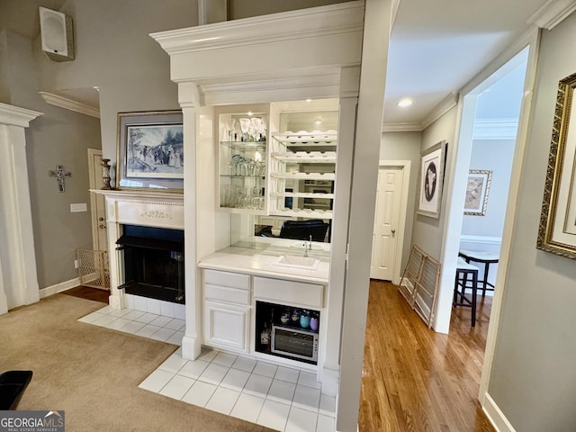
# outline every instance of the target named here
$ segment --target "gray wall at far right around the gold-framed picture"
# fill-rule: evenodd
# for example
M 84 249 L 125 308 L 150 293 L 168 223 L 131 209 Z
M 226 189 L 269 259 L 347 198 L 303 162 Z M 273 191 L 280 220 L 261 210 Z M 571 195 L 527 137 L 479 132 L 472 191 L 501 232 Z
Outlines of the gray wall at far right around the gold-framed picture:
M 543 31 L 489 392 L 522 432 L 576 425 L 576 263 L 536 250 L 558 81 L 576 72 L 576 14 Z

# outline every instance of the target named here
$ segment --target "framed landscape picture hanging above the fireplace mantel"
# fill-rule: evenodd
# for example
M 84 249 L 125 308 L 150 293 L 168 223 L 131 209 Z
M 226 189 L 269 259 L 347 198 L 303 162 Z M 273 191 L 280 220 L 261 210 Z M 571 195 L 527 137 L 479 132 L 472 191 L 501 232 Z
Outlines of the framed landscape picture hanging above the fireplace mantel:
M 154 188 L 182 192 L 182 112 L 120 112 L 116 169 L 119 189 Z

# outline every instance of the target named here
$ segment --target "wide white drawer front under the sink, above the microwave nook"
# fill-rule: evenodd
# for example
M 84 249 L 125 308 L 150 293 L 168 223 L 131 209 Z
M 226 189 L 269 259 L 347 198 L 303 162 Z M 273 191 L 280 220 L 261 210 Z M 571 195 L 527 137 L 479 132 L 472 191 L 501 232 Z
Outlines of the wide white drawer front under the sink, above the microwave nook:
M 276 303 L 289 302 L 322 308 L 324 285 L 255 277 L 254 297 Z

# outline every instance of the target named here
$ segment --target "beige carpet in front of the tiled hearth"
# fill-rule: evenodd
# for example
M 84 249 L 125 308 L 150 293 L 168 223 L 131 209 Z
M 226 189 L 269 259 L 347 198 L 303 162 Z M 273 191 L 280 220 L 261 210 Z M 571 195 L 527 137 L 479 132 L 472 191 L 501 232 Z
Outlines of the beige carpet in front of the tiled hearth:
M 77 321 L 102 307 L 55 294 L 0 315 L 0 372 L 34 373 L 18 410 L 65 410 L 67 432 L 271 430 L 139 389 L 177 347 Z

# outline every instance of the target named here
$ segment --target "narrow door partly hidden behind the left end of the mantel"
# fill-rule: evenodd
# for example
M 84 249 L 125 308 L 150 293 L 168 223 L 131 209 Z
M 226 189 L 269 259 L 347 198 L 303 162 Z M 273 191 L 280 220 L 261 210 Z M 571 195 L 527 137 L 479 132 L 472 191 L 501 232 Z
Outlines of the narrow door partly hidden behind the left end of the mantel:
M 88 148 L 88 173 L 90 189 L 102 188 L 102 150 Z M 106 207 L 104 195 L 90 193 L 90 211 L 92 213 L 92 247 L 94 250 L 108 250 L 106 232 Z

